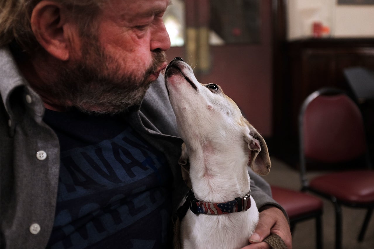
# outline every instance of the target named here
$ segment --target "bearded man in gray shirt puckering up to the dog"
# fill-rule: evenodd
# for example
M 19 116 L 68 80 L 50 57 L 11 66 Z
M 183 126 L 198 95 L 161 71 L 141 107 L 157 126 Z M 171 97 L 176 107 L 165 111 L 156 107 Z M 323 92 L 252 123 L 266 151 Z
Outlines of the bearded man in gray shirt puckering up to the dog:
M 0 248 L 171 248 L 187 193 L 160 71 L 168 0 L 3 0 Z M 251 173 L 252 174 L 252 173 Z M 246 248 L 291 248 L 269 186 Z

